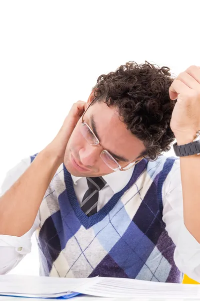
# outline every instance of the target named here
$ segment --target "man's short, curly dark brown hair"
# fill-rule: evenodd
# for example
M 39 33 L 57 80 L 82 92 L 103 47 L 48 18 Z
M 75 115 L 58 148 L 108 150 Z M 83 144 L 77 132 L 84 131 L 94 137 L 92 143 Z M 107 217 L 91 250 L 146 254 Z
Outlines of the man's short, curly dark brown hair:
M 169 71 L 147 61 L 128 62 L 100 75 L 92 88 L 96 101 L 117 109 L 119 119 L 145 146 L 140 156 L 150 161 L 167 152 L 174 140 L 170 119 L 175 101 L 169 98 L 174 77 Z

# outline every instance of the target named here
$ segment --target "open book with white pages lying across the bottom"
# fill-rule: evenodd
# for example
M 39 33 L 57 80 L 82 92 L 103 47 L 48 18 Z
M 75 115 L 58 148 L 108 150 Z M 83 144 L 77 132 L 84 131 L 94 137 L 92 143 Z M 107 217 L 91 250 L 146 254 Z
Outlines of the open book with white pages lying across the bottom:
M 126 278 L 57 278 L 0 275 L 0 295 L 25 297 L 71 297 L 83 293 L 121 298 L 200 298 L 200 285 L 143 281 Z

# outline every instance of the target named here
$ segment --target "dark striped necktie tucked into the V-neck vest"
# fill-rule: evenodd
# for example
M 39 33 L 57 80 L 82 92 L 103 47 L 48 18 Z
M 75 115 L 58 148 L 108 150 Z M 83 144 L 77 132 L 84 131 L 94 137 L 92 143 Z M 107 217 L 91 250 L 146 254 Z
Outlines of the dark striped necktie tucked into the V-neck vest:
M 106 182 L 102 177 L 86 178 L 88 189 L 85 192 L 80 208 L 90 216 L 97 212 L 98 192 L 105 186 Z

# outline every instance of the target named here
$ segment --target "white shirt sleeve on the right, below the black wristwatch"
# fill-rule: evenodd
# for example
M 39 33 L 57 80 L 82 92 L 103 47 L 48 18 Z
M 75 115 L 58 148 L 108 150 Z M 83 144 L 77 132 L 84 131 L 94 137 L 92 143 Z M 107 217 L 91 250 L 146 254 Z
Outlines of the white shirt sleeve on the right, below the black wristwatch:
M 178 269 L 200 282 L 200 244 L 184 225 L 180 162 L 176 160 L 162 187 L 166 231 L 175 244 L 174 262 Z

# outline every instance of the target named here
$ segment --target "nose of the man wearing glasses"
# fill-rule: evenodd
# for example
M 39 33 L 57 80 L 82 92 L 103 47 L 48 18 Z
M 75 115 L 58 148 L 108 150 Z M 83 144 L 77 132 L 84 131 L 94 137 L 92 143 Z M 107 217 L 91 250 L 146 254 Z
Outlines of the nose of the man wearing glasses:
M 85 167 L 92 167 L 99 160 L 101 152 L 101 147 L 88 144 L 86 147 L 79 150 L 80 162 Z

